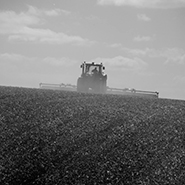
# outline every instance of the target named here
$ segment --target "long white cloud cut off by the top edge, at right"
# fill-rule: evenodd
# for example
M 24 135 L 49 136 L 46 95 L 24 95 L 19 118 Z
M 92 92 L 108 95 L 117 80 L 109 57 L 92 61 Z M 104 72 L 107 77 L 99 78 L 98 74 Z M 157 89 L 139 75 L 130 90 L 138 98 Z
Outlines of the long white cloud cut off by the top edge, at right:
M 185 7 L 185 0 L 98 0 L 98 4 L 133 6 L 136 8 L 173 9 Z

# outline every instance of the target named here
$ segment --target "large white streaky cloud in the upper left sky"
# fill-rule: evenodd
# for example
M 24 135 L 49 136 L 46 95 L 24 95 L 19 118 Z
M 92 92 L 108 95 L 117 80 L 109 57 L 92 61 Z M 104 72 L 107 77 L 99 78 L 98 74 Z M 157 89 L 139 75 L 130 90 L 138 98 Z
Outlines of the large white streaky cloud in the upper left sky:
M 9 41 L 22 40 L 50 44 L 71 43 L 85 46 L 94 43 L 80 36 L 38 28 L 45 22 L 43 14 L 56 16 L 59 14 L 59 10 L 44 11 L 29 6 L 27 12 L 21 12 L 19 14 L 13 11 L 0 12 L 0 34 L 8 35 Z

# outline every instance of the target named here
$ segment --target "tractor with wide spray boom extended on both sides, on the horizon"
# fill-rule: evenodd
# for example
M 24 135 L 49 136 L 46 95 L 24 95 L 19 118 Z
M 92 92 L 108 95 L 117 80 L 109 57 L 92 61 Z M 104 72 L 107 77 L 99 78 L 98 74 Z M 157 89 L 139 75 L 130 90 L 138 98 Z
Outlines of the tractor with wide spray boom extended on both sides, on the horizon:
M 131 96 L 142 96 L 158 98 L 157 91 L 143 91 L 133 88 L 113 88 L 107 86 L 107 75 L 104 74 L 105 67 L 102 63 L 96 64 L 83 62 L 81 76 L 77 79 L 77 85 L 71 84 L 49 84 L 40 83 L 40 88 L 55 89 L 64 91 L 77 91 L 80 93 L 97 93 L 97 94 L 120 94 Z

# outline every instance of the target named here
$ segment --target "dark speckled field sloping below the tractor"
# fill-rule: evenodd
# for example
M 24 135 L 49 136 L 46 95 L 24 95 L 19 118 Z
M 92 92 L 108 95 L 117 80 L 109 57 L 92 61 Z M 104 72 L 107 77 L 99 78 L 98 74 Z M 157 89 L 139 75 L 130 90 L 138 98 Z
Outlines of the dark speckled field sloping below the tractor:
M 0 184 L 184 183 L 185 101 L 0 87 Z

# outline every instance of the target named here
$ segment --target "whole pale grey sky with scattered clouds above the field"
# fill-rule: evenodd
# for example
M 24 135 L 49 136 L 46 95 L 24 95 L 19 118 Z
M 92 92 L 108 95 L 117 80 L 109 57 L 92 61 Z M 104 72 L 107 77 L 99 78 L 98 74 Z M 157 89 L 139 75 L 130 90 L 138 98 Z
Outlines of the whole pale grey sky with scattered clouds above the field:
M 0 0 L 0 85 L 76 84 L 103 62 L 108 86 L 185 100 L 185 0 Z

